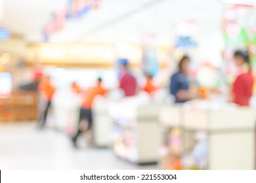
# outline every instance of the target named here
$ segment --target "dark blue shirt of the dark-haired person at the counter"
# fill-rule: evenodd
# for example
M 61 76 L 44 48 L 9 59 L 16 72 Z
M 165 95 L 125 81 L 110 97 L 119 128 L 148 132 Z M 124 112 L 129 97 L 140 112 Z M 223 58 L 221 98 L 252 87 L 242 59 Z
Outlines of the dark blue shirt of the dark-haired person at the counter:
M 189 80 L 184 73 L 178 72 L 171 77 L 170 92 L 175 97 L 175 103 L 184 103 L 187 100 L 180 100 L 177 98 L 177 93 L 180 90 L 188 90 Z

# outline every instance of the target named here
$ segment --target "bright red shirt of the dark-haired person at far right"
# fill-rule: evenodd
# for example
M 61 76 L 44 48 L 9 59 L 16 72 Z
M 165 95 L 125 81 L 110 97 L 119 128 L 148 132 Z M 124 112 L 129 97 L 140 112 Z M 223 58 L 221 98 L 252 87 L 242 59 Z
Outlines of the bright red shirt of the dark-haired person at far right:
M 253 93 L 253 76 L 251 73 L 239 75 L 233 83 L 233 102 L 240 106 L 249 106 Z

